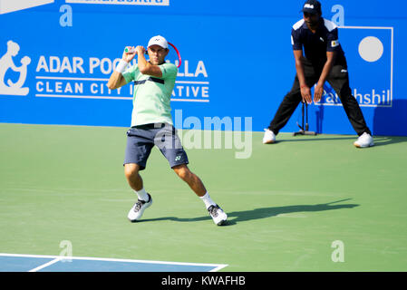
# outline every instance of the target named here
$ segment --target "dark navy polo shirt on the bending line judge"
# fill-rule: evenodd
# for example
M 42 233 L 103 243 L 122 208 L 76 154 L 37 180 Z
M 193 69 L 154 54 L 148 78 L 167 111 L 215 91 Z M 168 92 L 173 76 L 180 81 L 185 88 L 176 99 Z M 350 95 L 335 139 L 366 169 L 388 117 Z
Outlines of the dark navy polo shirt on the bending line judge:
M 315 66 L 321 67 L 326 63 L 326 52 L 336 52 L 334 64 L 346 66 L 344 51 L 338 41 L 338 27 L 332 21 L 320 18 L 315 34 L 301 19 L 293 25 L 291 43 L 293 50 L 303 50 L 305 58 Z

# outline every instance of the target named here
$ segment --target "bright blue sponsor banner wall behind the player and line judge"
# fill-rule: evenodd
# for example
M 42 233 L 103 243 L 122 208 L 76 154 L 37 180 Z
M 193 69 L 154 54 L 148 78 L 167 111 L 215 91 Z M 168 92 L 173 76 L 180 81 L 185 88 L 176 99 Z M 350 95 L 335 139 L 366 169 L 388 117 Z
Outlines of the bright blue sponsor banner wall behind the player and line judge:
M 407 3 L 321 1 L 338 24 L 351 89 L 374 135 L 407 136 L 402 68 Z M 1 0 L 0 122 L 130 126 L 132 86 L 107 81 L 126 45 L 163 35 L 181 54 L 174 122 L 250 120 L 220 130 L 263 131 L 291 89 L 291 27 L 303 1 Z M 171 50 L 170 63 L 178 64 Z M 354 134 L 325 86 L 309 107 L 311 131 Z M 282 131 L 298 131 L 301 108 Z M 236 124 L 235 122 L 233 124 Z M 195 128 L 215 129 L 215 128 Z

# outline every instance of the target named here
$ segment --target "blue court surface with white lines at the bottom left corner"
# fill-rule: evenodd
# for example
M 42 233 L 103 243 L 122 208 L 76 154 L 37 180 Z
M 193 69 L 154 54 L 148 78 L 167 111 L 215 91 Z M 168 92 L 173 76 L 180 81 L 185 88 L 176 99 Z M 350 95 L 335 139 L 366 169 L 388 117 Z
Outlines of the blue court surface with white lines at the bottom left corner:
M 227 265 L 0 254 L 0 272 L 216 272 Z

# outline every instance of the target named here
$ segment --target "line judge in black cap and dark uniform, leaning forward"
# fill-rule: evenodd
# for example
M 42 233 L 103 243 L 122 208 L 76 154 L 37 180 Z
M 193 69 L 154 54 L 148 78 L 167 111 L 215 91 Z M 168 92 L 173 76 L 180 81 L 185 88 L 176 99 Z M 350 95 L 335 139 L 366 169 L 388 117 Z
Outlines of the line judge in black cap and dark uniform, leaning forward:
M 291 30 L 296 79 L 265 130 L 263 143 L 276 141 L 278 131 L 286 125 L 299 102 L 312 102 L 310 88 L 314 85 L 314 101 L 319 102 L 324 93 L 324 83 L 327 81 L 341 99 L 344 111 L 359 136 L 354 141 L 354 146 L 373 146 L 372 133 L 349 87 L 348 68 L 344 51 L 338 41 L 337 26 L 322 17 L 321 3 L 316 0 L 305 2 L 303 14 L 303 19 L 294 24 Z

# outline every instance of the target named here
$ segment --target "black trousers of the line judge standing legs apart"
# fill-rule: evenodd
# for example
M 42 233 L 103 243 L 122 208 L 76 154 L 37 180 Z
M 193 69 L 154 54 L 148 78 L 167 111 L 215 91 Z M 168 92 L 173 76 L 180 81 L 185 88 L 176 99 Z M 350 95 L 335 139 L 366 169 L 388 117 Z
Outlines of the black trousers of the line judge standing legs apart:
M 315 67 L 312 63 L 309 63 L 305 60 L 304 62 L 304 73 L 305 73 L 305 82 L 308 87 L 313 87 L 316 82 L 319 80 L 319 76 L 322 73 L 322 67 Z M 341 100 L 344 111 L 354 127 L 354 131 L 360 136 L 364 132 L 372 134 L 372 132 L 367 128 L 366 122 L 364 121 L 363 113 L 359 107 L 358 102 L 352 95 L 352 90 L 349 87 L 349 76 L 347 73 L 346 65 L 334 65 L 331 72 L 329 73 L 326 81 L 331 84 L 334 91 L 338 94 L 339 99 Z M 298 77 L 293 84 L 293 88 L 290 92 L 286 94 L 281 102 L 274 119 L 270 122 L 268 129 L 273 131 L 275 134 L 286 126 L 286 122 L 291 118 L 296 107 L 302 101 L 301 89 L 298 82 Z

